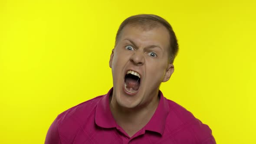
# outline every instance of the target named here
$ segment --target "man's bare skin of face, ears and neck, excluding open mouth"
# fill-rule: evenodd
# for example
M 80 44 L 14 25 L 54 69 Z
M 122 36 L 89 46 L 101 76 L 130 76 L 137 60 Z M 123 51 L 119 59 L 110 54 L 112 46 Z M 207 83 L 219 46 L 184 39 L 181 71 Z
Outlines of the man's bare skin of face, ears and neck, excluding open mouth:
M 161 82 L 167 82 L 174 72 L 174 65 L 169 63 L 169 39 L 167 29 L 160 24 L 152 29 L 127 25 L 112 49 L 109 66 L 114 89 L 110 108 L 117 124 L 130 137 L 154 115 Z M 128 94 L 123 88 L 128 70 L 141 75 L 135 95 Z

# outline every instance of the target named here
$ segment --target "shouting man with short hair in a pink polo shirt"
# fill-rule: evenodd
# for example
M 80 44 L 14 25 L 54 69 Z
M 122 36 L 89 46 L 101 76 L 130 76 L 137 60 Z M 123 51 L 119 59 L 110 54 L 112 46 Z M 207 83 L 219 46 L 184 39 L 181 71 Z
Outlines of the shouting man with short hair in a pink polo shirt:
M 113 88 L 53 122 L 46 144 L 216 144 L 210 128 L 159 90 L 174 72 L 178 44 L 156 15 L 127 18 L 109 66 Z

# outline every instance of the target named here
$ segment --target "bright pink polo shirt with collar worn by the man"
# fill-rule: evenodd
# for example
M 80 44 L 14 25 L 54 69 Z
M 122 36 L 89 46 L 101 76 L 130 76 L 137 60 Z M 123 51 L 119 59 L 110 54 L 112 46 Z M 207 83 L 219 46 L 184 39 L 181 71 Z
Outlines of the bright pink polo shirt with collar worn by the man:
M 62 112 L 53 121 L 45 144 L 216 144 L 211 129 L 159 91 L 157 110 L 132 137 L 115 122 L 106 94 Z

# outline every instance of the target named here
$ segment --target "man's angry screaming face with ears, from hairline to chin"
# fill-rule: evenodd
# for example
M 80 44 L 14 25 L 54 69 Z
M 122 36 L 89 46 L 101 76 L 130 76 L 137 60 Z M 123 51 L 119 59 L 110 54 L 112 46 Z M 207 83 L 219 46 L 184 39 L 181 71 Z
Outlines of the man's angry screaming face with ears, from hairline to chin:
M 161 82 L 174 72 L 168 62 L 169 39 L 164 26 L 144 30 L 127 25 L 122 29 L 109 61 L 118 105 L 136 108 L 157 99 Z

